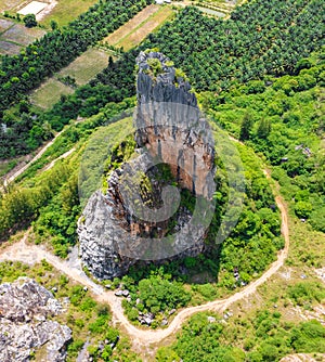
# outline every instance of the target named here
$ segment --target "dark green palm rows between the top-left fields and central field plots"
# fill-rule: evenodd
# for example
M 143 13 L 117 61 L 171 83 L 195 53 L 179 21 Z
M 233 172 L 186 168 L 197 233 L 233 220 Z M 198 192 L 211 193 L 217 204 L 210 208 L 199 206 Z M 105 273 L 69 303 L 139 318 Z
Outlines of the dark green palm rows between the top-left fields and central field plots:
M 0 111 L 21 100 L 46 77 L 69 64 L 89 46 L 113 33 L 147 3 L 144 0 L 101 0 L 68 27 L 53 29 L 20 55 L 3 56 L 0 68 Z

